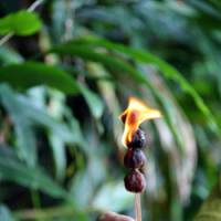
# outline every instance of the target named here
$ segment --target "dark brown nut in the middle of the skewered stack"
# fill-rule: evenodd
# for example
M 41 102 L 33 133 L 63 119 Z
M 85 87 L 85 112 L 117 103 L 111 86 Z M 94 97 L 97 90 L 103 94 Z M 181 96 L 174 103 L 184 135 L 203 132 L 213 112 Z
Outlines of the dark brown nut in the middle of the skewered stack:
M 145 161 L 146 157 L 141 149 L 129 148 L 124 157 L 125 167 L 130 169 L 140 169 Z

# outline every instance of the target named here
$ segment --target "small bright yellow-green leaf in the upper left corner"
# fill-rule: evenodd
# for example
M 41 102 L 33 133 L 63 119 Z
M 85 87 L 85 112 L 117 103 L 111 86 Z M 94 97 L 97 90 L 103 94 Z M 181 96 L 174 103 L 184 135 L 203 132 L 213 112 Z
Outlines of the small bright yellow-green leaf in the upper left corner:
M 13 32 L 17 35 L 30 35 L 39 31 L 42 22 L 36 13 L 21 10 L 0 19 L 0 34 Z

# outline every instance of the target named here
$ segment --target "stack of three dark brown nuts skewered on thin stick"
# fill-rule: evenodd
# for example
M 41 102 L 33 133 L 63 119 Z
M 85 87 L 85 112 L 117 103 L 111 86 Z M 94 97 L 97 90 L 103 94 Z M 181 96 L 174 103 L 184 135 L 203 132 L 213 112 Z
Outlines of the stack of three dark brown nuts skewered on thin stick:
M 140 169 L 146 162 L 143 148 L 146 145 L 146 135 L 138 128 L 130 143 L 127 144 L 127 152 L 124 157 L 124 165 L 129 173 L 124 178 L 125 188 L 130 192 L 143 192 L 146 188 L 146 180 Z

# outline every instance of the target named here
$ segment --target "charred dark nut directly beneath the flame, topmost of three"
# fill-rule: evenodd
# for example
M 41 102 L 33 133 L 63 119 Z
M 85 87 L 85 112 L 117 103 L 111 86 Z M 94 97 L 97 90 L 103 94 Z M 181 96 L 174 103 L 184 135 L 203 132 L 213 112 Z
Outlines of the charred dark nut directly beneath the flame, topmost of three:
M 133 136 L 133 140 L 127 143 L 127 147 L 130 148 L 143 148 L 147 143 L 146 134 L 138 128 Z

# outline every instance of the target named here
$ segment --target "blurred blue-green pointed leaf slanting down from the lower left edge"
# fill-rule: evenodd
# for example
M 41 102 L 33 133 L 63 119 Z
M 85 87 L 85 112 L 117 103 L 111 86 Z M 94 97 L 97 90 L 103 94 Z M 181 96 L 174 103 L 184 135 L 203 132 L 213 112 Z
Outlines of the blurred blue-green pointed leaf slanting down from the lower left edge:
M 51 197 L 67 197 L 66 191 L 42 169 L 39 167 L 27 167 L 24 162 L 15 158 L 8 147 L 2 146 L 0 148 L 0 180 L 14 181 L 24 187 L 41 190 Z

